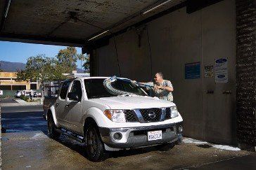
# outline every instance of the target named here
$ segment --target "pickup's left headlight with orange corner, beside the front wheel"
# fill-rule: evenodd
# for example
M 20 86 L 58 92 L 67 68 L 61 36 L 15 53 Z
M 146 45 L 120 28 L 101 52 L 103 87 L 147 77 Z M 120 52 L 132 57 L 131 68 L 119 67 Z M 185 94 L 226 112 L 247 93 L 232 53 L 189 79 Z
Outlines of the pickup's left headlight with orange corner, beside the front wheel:
M 126 122 L 124 110 L 105 110 L 104 115 L 113 122 Z

